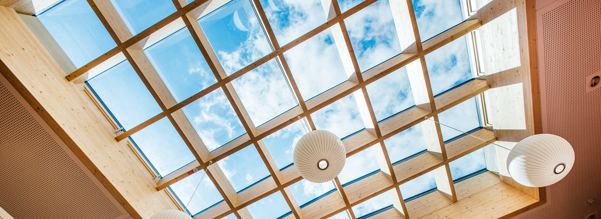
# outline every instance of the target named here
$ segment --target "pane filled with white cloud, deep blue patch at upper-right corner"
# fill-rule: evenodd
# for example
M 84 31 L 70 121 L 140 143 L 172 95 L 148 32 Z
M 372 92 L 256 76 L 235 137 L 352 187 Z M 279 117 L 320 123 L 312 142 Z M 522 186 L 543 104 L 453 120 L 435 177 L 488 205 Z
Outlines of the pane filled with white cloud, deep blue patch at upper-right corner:
M 284 55 L 305 101 L 348 79 L 329 29 Z

